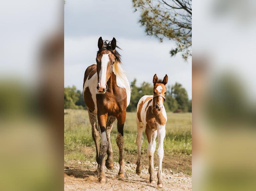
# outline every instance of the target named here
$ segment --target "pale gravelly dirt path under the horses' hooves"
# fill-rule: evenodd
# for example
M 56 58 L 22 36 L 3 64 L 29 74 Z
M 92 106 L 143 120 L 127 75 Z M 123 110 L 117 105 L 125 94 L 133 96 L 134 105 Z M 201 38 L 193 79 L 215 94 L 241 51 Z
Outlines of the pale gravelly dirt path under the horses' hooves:
M 149 183 L 148 166 L 142 166 L 140 175 L 135 173 L 136 164 L 125 164 L 128 179 L 117 176 L 119 164 L 114 163 L 114 169 L 106 168 L 107 184 L 98 183 L 96 162 L 68 160 L 64 163 L 64 190 L 165 190 L 188 191 L 192 190 L 192 177 L 183 173 L 174 173 L 170 169 L 162 169 L 163 188 Z M 155 177 L 158 167 L 155 166 Z M 156 178 L 157 182 L 157 178 Z

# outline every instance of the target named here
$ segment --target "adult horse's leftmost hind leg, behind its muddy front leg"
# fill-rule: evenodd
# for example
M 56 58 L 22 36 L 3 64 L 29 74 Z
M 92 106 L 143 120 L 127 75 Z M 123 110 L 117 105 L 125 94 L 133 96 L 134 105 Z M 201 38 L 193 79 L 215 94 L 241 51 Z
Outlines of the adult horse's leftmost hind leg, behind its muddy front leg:
M 90 123 L 92 125 L 92 136 L 94 143 L 96 145 L 96 161 L 98 163 L 98 170 L 100 169 L 100 163 L 99 163 L 99 155 L 100 155 L 100 145 L 99 145 L 99 130 L 97 129 L 97 114 L 92 112 L 88 107 L 88 114 L 89 114 L 89 119 Z

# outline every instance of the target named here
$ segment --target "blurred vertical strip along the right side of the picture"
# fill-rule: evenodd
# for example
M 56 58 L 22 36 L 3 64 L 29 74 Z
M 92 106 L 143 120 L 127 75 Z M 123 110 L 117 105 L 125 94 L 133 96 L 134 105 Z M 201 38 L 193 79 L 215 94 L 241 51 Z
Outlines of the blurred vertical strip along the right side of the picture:
M 254 190 L 255 1 L 193 0 L 193 190 Z

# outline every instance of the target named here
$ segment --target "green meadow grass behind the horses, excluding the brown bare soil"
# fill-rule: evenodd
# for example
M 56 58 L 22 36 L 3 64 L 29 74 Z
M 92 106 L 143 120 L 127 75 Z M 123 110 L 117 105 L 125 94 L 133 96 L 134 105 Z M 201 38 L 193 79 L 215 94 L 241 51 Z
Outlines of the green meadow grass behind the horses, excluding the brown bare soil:
M 64 150 L 65 159 L 95 159 L 82 152 L 82 147 L 95 147 L 92 139 L 91 124 L 86 110 L 67 109 L 64 116 Z M 191 113 L 172 113 L 167 112 L 166 136 L 164 139 L 165 153 L 192 154 L 192 135 L 191 135 Z M 116 145 L 117 126 L 116 121 L 111 132 L 111 142 L 114 155 L 118 155 Z M 125 154 L 137 154 L 136 145 L 137 125 L 136 112 L 127 112 L 124 126 L 124 151 Z M 144 141 L 142 153 L 146 153 L 147 141 L 143 133 Z M 157 140 L 157 139 L 156 139 Z

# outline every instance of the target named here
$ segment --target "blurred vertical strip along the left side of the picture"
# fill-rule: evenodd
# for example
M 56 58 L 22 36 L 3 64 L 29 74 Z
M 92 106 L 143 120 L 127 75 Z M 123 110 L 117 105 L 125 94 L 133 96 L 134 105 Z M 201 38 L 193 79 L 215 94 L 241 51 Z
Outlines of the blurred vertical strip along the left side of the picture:
M 63 8 L 1 2 L 0 190 L 63 188 Z

